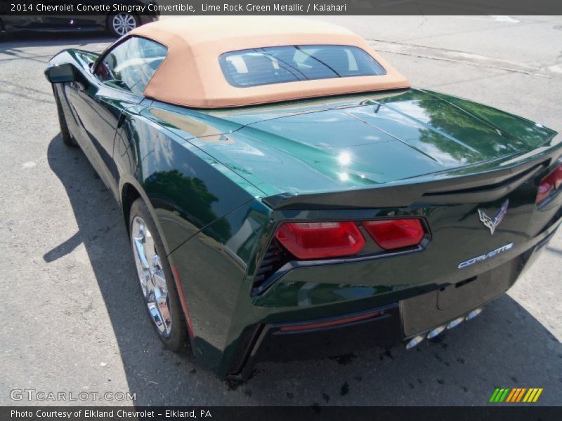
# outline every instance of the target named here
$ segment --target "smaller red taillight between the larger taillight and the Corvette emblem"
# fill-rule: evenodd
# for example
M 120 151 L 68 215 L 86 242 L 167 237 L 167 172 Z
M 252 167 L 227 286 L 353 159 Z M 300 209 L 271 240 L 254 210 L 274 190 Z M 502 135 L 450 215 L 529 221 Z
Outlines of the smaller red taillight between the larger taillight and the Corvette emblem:
M 363 225 L 384 250 L 417 246 L 424 238 L 419 219 L 366 221 Z

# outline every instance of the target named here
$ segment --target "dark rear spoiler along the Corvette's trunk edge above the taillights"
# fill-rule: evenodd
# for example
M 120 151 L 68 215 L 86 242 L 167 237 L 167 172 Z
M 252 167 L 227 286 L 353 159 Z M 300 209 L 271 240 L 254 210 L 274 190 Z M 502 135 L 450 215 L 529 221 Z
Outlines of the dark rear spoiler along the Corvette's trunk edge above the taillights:
M 509 194 L 523 182 L 549 168 L 561 154 L 562 144 L 535 149 L 532 154 L 510 157 L 502 163 L 481 163 L 381 184 L 377 187 L 315 194 L 276 194 L 263 198 L 273 210 L 405 208 L 421 203 L 483 203 Z M 531 156 L 529 156 L 531 155 Z M 497 166 L 503 167 L 495 169 Z M 493 169 L 490 169 L 493 168 Z M 471 171 L 471 175 L 465 175 Z M 478 171 L 478 172 L 476 172 Z

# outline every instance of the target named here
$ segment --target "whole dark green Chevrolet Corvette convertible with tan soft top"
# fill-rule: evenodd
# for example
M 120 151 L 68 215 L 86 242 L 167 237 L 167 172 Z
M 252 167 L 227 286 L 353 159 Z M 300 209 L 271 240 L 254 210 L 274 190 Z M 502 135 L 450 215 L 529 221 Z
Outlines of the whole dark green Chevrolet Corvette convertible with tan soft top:
M 154 22 L 46 69 L 160 340 L 243 379 L 413 347 L 510 288 L 562 222 L 557 133 L 411 88 L 347 29 L 248 19 Z

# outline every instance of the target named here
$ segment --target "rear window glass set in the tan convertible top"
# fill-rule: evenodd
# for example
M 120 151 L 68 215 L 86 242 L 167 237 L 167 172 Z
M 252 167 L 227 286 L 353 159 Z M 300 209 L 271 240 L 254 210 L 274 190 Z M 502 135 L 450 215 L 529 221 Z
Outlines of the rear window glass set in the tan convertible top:
M 230 85 L 244 88 L 313 79 L 386 74 L 355 46 L 282 46 L 231 51 L 219 57 Z

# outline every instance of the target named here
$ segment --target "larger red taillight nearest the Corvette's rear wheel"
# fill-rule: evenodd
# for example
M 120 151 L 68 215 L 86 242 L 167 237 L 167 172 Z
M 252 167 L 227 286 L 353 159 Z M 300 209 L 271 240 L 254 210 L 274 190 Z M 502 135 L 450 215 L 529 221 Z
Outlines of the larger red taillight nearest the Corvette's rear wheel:
M 275 237 L 299 259 L 353 255 L 365 245 L 355 222 L 287 222 Z

